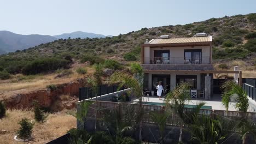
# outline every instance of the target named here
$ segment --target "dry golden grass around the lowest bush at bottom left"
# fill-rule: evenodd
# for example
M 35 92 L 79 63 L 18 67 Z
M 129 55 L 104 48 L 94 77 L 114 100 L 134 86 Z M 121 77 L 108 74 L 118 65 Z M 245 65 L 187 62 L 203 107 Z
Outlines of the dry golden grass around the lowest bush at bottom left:
M 7 111 L 7 117 L 0 119 L 0 131 L 7 130 L 7 133 L 0 133 L 0 143 L 23 143 L 13 139 L 19 129 L 18 122 L 21 118 L 33 119 L 32 111 L 13 110 Z M 50 114 L 45 123 L 35 123 L 31 140 L 28 143 L 46 143 L 57 137 L 66 134 L 67 130 L 76 127 L 76 119 L 67 115 L 65 111 Z

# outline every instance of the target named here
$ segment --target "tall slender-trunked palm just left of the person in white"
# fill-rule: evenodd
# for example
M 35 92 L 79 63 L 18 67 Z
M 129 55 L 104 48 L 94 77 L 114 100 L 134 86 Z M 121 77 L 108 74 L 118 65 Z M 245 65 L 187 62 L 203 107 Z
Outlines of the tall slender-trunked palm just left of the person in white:
M 139 122 L 139 140 L 142 140 L 142 98 L 143 98 L 143 68 L 138 63 L 131 64 L 132 74 L 115 72 L 110 76 L 109 83 L 119 83 L 118 89 L 121 87 L 132 88 L 132 93 L 139 100 L 139 111 L 137 121 Z

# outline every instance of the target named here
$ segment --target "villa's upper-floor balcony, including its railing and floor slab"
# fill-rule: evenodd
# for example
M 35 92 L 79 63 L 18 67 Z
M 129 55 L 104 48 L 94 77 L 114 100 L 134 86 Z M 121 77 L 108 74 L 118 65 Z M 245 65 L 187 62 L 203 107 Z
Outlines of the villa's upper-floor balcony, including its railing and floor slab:
M 149 70 L 213 70 L 210 57 L 144 57 Z

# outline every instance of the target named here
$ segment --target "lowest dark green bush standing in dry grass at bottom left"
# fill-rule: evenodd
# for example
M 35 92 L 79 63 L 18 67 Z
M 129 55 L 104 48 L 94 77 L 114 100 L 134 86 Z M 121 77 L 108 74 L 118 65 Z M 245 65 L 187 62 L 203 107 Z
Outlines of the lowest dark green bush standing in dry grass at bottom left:
M 20 129 L 17 132 L 18 137 L 22 140 L 29 139 L 32 134 L 34 123 L 30 122 L 27 118 L 22 118 L 18 124 L 20 124 Z

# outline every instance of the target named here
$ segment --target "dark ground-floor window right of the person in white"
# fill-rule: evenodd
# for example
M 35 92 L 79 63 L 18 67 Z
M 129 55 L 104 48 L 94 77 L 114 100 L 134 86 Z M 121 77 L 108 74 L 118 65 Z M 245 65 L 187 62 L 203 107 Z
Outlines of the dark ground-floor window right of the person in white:
M 176 75 L 176 85 L 187 82 L 190 88 L 196 89 L 197 76 L 196 75 Z

